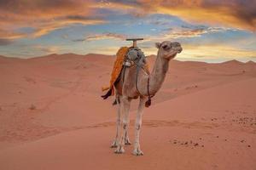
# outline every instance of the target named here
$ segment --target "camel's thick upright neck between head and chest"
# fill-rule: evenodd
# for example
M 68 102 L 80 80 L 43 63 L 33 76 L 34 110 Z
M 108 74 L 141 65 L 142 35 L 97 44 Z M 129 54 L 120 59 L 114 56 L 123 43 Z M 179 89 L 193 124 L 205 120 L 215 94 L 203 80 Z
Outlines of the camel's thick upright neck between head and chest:
M 157 56 L 154 62 L 154 68 L 149 76 L 149 93 L 155 94 L 159 91 L 162 83 L 165 80 L 166 72 L 169 68 L 169 61 L 167 59 L 162 59 Z

